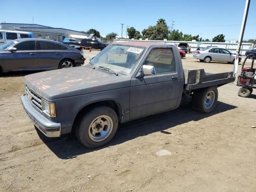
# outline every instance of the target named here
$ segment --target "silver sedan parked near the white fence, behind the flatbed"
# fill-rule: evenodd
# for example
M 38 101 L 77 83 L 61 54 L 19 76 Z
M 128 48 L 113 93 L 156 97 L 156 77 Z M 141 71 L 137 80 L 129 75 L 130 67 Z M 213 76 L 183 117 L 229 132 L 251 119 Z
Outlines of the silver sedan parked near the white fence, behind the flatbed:
M 205 48 L 206 49 L 206 48 Z M 220 61 L 234 63 L 236 55 L 223 48 L 211 47 L 206 50 L 197 50 L 194 52 L 193 57 L 199 59 L 201 62 L 209 63 L 211 61 Z M 242 57 L 239 56 L 239 62 Z

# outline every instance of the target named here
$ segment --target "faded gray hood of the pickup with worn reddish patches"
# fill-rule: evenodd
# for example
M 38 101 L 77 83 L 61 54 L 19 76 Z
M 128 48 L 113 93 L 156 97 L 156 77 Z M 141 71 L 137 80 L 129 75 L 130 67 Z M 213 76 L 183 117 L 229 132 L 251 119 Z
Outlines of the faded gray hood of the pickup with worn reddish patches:
M 110 74 L 89 66 L 52 70 L 24 77 L 25 84 L 45 99 L 53 100 L 125 88 L 129 76 Z

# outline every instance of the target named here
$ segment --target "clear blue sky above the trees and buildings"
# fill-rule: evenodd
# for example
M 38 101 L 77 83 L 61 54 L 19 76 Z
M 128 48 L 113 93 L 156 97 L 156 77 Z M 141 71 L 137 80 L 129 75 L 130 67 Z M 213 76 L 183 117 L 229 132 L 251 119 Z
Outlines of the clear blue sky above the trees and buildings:
M 148 0 L 86 1 L 43 0 L 1 2 L 0 22 L 34 23 L 72 30 L 95 28 L 101 35 L 116 32 L 123 36 L 126 26 L 140 32 L 164 18 L 174 29 L 212 39 L 224 34 L 226 40 L 238 39 L 246 0 Z M 24 3 L 26 2 L 26 3 Z M 93 6 L 91 6 L 93 5 Z M 244 39 L 256 39 L 256 0 L 251 0 Z

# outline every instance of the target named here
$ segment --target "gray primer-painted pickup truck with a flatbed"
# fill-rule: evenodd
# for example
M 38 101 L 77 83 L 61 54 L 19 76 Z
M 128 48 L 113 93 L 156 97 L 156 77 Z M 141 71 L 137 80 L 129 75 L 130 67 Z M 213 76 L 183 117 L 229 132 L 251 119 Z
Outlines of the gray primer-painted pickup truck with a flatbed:
M 108 143 L 119 123 L 174 110 L 183 96 L 202 113 L 214 110 L 217 87 L 233 72 L 184 70 L 178 48 L 152 42 L 110 44 L 86 66 L 25 76 L 22 105 L 48 137 L 76 133 L 84 146 Z

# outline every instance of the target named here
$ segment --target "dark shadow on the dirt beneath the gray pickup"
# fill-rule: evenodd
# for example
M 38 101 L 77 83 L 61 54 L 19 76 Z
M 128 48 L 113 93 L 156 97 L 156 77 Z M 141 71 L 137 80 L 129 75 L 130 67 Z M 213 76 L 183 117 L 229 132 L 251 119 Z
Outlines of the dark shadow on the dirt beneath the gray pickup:
M 68 134 L 60 138 L 47 138 L 40 131 L 37 129 L 36 130 L 42 141 L 50 150 L 52 150 L 52 152 L 54 152 L 54 154 L 56 154 L 56 156 L 58 156 L 58 158 L 70 159 L 76 158 L 81 154 L 101 150 L 102 148 L 114 146 L 140 136 L 152 134 L 154 132 L 171 134 L 171 132 L 167 132 L 165 130 L 186 122 L 198 121 L 218 113 L 232 110 L 234 108 L 236 108 L 236 106 L 218 102 L 213 112 L 209 114 L 202 114 L 192 110 L 190 104 L 182 104 L 180 108 L 173 111 L 120 124 L 118 131 L 116 132 L 116 136 L 114 136 L 110 143 L 94 149 L 84 147 L 72 134 Z

